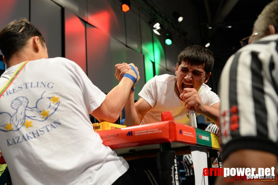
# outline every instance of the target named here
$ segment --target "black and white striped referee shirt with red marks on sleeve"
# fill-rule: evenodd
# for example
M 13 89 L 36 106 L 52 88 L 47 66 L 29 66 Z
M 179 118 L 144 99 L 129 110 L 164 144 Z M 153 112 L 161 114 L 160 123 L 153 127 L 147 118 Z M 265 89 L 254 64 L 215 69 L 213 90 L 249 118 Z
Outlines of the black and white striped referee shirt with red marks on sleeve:
M 232 55 L 219 89 L 222 158 L 239 149 L 278 155 L 278 34 Z

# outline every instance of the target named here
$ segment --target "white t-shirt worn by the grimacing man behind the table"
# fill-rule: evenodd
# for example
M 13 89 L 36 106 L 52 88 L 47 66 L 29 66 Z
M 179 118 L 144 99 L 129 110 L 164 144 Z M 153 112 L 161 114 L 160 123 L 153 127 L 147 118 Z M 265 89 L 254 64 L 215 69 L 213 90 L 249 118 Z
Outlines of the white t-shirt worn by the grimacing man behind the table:
M 189 118 L 186 116 L 188 110 L 174 90 L 175 79 L 176 76 L 164 74 L 153 77 L 144 85 L 139 96 L 152 108 L 146 113 L 141 125 L 161 121 L 161 112 L 164 111 L 172 111 L 176 122 L 189 124 Z M 199 95 L 205 105 L 211 106 L 220 102 L 218 95 L 206 84 L 202 84 Z

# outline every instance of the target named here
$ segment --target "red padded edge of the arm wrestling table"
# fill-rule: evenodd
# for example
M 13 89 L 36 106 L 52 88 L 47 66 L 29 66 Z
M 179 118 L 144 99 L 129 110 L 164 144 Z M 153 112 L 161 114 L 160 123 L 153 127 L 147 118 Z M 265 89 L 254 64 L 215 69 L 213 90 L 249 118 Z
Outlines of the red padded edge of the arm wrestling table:
M 99 131 L 103 144 L 111 149 L 159 143 L 183 142 L 196 145 L 194 127 L 175 121 L 160 121 L 122 129 Z

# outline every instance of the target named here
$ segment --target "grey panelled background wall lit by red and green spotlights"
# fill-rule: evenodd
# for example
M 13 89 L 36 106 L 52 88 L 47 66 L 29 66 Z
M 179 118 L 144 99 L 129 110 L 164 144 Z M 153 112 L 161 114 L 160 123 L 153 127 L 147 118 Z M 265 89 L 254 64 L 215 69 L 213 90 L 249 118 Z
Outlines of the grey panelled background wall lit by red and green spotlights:
M 131 1 L 131 10 L 127 13 L 121 11 L 119 0 L 0 2 L 0 27 L 14 19 L 27 18 L 42 31 L 49 57 L 62 56 L 75 61 L 103 92 L 109 92 L 117 84 L 115 64 L 134 63 L 141 76 L 136 84 L 136 100 L 151 77 L 174 74 L 177 55 L 190 45 L 182 40 L 165 45 L 164 35 L 153 33 L 149 24 L 151 14 L 143 11 L 138 1 Z M 198 22 L 192 25 L 198 27 Z M 200 40 L 197 32 L 195 29 L 194 38 Z

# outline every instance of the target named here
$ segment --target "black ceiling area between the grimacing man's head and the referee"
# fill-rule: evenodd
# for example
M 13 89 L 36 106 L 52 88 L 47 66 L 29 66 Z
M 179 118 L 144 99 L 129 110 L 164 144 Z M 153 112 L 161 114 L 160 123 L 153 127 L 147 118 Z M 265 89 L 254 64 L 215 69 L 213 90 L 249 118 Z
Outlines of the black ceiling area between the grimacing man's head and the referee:
M 240 48 L 239 41 L 251 35 L 257 16 L 271 1 L 192 0 L 199 11 L 202 41 L 212 42 L 215 57 L 225 61 Z

